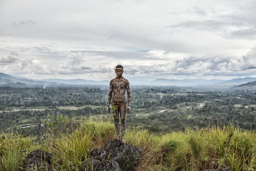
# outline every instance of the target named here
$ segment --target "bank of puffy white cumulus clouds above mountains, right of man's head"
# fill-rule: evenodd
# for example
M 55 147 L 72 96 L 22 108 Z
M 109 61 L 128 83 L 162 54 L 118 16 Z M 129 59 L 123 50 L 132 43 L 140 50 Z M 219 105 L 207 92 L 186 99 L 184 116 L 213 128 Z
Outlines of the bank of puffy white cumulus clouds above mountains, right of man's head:
M 153 51 L 160 52 L 161 51 Z M 156 54 L 158 55 L 158 54 Z M 197 75 L 197 76 L 242 76 L 252 75 L 256 69 L 256 46 L 246 55 L 239 58 L 219 54 L 216 56 L 185 56 L 172 58 L 163 64 L 127 65 L 126 71 L 130 75 Z M 247 73 L 247 74 L 246 74 Z

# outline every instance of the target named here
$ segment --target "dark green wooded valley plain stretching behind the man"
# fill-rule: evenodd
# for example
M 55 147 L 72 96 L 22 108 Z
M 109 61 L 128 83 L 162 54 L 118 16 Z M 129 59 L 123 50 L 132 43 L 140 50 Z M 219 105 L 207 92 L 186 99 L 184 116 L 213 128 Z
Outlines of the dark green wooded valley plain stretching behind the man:
M 108 86 L 0 87 L 0 131 L 40 135 L 49 116 L 63 115 L 70 125 L 88 119 L 111 120 Z M 256 130 L 256 92 L 216 87 L 132 86 L 126 124 L 153 133 L 187 127 L 232 124 Z

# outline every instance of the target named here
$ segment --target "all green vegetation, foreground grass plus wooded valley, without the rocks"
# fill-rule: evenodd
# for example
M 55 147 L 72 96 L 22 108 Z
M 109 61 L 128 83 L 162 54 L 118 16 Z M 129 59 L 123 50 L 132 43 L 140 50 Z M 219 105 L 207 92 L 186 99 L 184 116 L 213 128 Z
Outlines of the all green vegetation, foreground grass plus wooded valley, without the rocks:
M 0 91 L 0 170 L 16 171 L 42 149 L 54 169 L 79 171 L 91 149 L 115 138 L 107 86 Z M 143 148 L 135 170 L 256 169 L 255 91 L 138 86 L 131 93 L 125 139 Z

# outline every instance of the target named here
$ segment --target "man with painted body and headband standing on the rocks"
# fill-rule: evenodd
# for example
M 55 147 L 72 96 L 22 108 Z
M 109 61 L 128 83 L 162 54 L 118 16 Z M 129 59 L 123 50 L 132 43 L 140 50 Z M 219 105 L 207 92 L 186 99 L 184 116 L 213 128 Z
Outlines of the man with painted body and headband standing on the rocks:
M 128 108 L 127 113 L 130 113 L 131 110 L 131 93 L 129 81 L 126 80 L 122 75 L 124 73 L 124 67 L 122 65 L 117 65 L 115 67 L 116 78 L 110 81 L 109 93 L 108 93 L 108 102 L 107 102 L 107 112 L 110 113 L 110 102 L 113 116 L 115 119 L 115 132 L 117 134 L 117 139 L 120 140 L 119 135 L 119 115 L 121 119 L 121 133 L 122 140 L 121 142 L 125 144 L 124 133 L 126 129 L 125 115 L 126 115 L 126 91 L 128 97 Z

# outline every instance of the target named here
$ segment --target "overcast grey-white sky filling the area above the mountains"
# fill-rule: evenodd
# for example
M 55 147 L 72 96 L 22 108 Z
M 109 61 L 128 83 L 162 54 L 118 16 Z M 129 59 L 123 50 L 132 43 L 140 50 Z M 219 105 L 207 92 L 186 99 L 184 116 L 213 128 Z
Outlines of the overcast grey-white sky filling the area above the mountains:
M 256 77 L 256 0 L 0 0 L 0 72 L 109 80 Z

